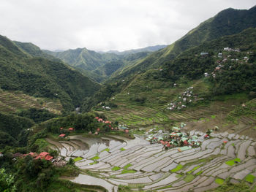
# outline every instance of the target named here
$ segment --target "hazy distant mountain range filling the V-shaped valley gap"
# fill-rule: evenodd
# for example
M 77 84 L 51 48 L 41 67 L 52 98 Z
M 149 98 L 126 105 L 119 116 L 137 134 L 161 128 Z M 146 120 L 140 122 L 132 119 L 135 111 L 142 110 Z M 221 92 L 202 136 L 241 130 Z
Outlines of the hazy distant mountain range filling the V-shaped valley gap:
M 116 70 L 135 64 L 135 61 L 138 60 L 138 55 L 140 55 L 139 58 L 146 57 L 149 53 L 164 47 L 166 47 L 166 45 L 156 45 L 123 52 L 108 51 L 105 53 L 97 53 L 94 50 L 87 50 L 86 48 L 65 50 L 61 52 L 53 52 L 49 50 L 43 51 L 48 55 L 53 55 L 53 57 L 59 58 L 66 64 L 75 67 L 75 69 L 80 70 L 80 72 L 86 74 L 86 76 L 91 77 L 91 79 L 101 82 L 107 77 L 110 77 Z M 129 56 L 132 54 L 137 55 Z

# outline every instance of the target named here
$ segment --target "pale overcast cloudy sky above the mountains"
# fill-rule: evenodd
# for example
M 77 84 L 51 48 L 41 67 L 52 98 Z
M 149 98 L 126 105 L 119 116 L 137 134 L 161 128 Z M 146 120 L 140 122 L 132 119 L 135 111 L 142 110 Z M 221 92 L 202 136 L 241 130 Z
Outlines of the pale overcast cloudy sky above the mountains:
M 42 49 L 170 45 L 229 7 L 255 0 L 1 0 L 0 34 Z

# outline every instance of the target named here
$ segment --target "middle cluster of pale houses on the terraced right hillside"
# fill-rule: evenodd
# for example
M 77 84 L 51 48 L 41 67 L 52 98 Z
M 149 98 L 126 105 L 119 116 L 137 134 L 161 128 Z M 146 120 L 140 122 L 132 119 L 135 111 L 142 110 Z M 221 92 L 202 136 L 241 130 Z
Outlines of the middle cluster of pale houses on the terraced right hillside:
M 167 110 L 181 110 L 186 108 L 187 104 L 199 100 L 203 100 L 203 98 L 199 98 L 197 94 L 193 93 L 193 87 L 191 86 L 181 93 L 181 96 L 178 96 L 176 101 L 172 101 L 170 104 L 167 104 Z

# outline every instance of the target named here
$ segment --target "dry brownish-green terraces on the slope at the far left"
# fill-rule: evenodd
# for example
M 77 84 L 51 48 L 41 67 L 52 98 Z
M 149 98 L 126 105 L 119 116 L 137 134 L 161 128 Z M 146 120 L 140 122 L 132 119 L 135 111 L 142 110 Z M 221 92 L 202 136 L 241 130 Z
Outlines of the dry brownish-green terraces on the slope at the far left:
M 46 109 L 56 114 L 61 114 L 62 110 L 60 101 L 35 98 L 24 93 L 0 91 L 1 112 L 16 112 L 20 109 L 29 109 L 32 107 L 37 109 Z

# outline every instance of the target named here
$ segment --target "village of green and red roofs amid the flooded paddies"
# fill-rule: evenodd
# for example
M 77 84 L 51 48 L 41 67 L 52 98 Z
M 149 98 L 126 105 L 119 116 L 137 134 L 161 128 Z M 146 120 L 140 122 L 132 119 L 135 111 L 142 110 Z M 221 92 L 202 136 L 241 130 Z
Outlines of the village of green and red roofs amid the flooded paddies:
M 148 137 L 151 143 L 161 143 L 163 149 L 178 147 L 178 151 L 188 150 L 191 147 L 199 147 L 201 145 L 200 139 L 197 136 L 190 137 L 189 135 L 181 132 L 181 129 L 186 126 L 185 123 L 181 123 L 180 127 L 173 127 L 170 130 L 170 134 L 165 134 L 164 137 Z

